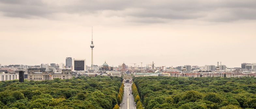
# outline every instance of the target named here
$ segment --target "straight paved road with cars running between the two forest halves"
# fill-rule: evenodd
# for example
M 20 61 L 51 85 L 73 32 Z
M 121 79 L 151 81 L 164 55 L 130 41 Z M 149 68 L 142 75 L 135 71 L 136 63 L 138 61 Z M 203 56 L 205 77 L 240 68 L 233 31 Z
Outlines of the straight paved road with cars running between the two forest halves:
M 134 98 L 133 98 L 133 95 L 131 94 L 131 84 L 125 83 L 124 85 L 125 87 L 124 87 L 124 95 L 123 95 L 123 100 L 121 104 L 121 109 L 136 109 Z

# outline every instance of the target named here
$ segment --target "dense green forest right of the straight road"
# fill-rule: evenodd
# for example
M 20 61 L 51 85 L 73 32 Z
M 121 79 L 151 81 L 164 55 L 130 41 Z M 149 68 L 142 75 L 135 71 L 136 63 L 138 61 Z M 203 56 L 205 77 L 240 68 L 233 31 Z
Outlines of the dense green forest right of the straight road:
M 145 109 L 256 109 L 256 78 L 135 77 Z

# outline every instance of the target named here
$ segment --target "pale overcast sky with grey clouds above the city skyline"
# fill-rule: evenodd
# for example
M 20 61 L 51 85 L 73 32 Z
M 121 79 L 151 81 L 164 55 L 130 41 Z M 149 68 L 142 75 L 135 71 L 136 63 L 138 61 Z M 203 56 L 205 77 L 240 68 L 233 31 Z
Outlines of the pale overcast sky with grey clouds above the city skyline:
M 255 0 L 0 0 L 0 64 L 256 63 Z

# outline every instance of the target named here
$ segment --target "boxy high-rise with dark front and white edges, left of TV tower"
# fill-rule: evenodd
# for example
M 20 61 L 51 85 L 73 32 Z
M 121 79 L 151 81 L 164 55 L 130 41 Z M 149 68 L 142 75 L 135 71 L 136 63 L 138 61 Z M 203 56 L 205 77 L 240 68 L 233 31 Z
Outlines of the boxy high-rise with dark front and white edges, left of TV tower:
M 73 62 L 74 62 L 74 65 L 73 65 L 74 71 L 85 71 L 86 70 L 85 59 L 82 59 L 82 60 L 74 59 Z

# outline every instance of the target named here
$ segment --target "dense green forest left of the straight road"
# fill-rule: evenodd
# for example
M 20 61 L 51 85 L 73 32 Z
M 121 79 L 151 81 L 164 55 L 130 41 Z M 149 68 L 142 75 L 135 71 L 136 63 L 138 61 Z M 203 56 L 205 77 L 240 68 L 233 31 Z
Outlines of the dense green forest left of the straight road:
M 121 83 L 119 77 L 104 76 L 24 83 L 4 81 L 0 82 L 0 108 L 113 109 Z

